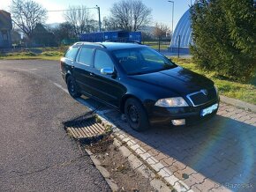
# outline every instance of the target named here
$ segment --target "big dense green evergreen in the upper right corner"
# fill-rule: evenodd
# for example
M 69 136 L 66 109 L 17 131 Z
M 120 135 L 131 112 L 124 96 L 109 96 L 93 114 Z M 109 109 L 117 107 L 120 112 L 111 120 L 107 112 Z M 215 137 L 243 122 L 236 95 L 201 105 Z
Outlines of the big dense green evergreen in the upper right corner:
M 192 6 L 192 58 L 201 69 L 248 80 L 256 70 L 252 0 L 199 0 Z

